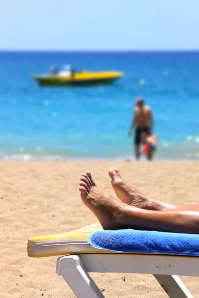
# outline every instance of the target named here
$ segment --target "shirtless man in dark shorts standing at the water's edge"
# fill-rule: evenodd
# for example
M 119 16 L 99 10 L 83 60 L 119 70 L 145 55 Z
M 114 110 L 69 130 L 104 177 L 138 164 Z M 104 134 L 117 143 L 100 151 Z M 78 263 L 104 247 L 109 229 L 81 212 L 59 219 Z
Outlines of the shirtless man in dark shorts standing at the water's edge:
M 134 127 L 135 127 L 135 135 L 134 135 L 135 156 L 136 156 L 136 159 L 139 160 L 140 144 L 142 142 L 141 134 L 145 132 L 147 133 L 147 135 L 151 135 L 153 130 L 153 115 L 150 107 L 144 104 L 143 98 L 138 98 L 136 100 L 134 115 L 128 132 L 129 136 L 132 135 L 132 130 Z

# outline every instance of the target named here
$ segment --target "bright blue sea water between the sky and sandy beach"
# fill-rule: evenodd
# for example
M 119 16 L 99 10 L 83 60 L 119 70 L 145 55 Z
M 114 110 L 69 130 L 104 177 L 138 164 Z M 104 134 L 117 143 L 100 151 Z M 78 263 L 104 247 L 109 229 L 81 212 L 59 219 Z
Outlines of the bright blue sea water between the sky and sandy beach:
M 122 71 L 111 85 L 39 87 L 52 65 Z M 156 159 L 199 159 L 199 52 L 1 52 L 0 159 L 134 158 L 135 99 L 152 108 Z

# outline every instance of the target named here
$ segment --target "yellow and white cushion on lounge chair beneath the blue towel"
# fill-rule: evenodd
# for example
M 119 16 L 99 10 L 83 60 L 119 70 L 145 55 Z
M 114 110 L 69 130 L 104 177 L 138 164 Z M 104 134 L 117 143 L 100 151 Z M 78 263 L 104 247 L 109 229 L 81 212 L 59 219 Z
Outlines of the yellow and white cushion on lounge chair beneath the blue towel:
M 89 234 L 99 230 L 103 230 L 102 226 L 95 223 L 64 234 L 30 238 L 27 243 L 28 256 L 41 258 L 77 253 L 108 253 L 107 250 L 94 248 L 87 242 Z

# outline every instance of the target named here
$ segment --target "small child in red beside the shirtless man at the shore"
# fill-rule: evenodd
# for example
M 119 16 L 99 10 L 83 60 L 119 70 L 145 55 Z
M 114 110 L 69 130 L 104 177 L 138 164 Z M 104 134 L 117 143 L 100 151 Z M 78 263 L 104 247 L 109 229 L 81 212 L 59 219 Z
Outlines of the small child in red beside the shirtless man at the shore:
M 146 153 L 147 159 L 152 160 L 153 154 L 157 149 L 157 137 L 143 132 L 141 140 L 143 142 L 142 153 Z

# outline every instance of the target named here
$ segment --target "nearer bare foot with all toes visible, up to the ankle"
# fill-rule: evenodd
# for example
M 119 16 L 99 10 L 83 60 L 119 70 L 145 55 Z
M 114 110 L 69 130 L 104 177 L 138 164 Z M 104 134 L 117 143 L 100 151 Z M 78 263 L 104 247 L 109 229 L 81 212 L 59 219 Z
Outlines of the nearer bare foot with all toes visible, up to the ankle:
M 122 228 L 117 219 L 124 204 L 97 186 L 90 171 L 82 174 L 79 190 L 82 201 L 98 218 L 103 229 Z

